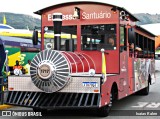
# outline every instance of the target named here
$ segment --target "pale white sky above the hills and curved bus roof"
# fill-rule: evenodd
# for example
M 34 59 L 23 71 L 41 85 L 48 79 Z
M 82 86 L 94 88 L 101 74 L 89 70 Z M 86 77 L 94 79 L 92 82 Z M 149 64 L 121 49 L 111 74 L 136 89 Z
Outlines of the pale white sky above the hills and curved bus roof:
M 13 12 L 28 14 L 35 17 L 33 12 L 63 2 L 77 0 L 1 0 L 0 12 Z M 160 14 L 160 0 L 81 0 L 81 1 L 99 1 L 124 7 L 131 13 L 150 13 Z

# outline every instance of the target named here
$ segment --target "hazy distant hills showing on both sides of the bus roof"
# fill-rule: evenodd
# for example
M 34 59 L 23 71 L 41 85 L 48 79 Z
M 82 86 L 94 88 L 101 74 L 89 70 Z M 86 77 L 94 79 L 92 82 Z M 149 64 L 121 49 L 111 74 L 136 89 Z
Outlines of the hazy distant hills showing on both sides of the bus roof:
M 35 26 L 41 26 L 41 20 L 38 18 L 34 18 L 30 15 L 8 12 L 0 12 L 0 23 L 3 23 L 4 14 L 7 24 L 16 29 L 26 29 L 28 26 L 29 29 L 33 30 Z M 137 23 L 138 25 L 160 23 L 160 14 L 139 13 L 134 15 L 140 20 L 140 22 Z

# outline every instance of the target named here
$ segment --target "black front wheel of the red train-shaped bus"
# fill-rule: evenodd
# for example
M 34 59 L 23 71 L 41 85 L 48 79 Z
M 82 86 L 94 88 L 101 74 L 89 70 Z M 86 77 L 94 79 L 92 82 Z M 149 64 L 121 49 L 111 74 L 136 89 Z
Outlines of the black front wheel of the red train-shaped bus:
M 112 102 L 113 102 L 113 94 L 111 93 L 110 95 L 110 103 L 104 107 L 99 108 L 98 110 L 98 116 L 100 117 L 106 117 L 109 115 L 109 112 L 111 110 L 112 107 Z

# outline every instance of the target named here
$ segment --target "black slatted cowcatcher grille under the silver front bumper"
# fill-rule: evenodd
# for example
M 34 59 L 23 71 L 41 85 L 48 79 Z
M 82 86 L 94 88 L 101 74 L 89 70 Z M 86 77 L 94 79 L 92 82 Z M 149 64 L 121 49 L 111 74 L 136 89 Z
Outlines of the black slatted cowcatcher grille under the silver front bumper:
M 100 94 L 9 91 L 5 103 L 47 109 L 65 107 L 99 107 Z

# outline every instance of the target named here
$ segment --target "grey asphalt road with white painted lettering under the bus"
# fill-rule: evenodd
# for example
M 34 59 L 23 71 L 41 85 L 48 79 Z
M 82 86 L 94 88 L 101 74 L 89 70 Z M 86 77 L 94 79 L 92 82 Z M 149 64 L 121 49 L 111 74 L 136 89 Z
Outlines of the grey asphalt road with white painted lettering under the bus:
M 108 117 L 97 117 L 95 110 L 58 110 L 50 112 L 52 117 L 34 117 L 37 119 L 158 119 L 160 116 L 156 116 L 159 110 L 160 114 L 160 72 L 156 72 L 156 84 L 150 86 L 150 93 L 147 96 L 141 95 L 131 95 L 124 99 L 117 101 L 113 107 L 110 115 Z M 14 107 L 7 110 L 32 110 L 30 108 Z M 125 111 L 123 111 L 125 110 Z M 130 111 L 128 111 L 130 110 Z M 147 112 L 143 112 L 147 110 Z M 124 114 L 125 116 L 122 116 Z M 133 116 L 131 116 L 133 114 Z M 137 114 L 137 115 L 136 115 Z M 144 114 L 149 114 L 150 116 L 142 116 Z M 138 116 L 141 115 L 141 116 Z M 154 115 L 154 116 L 153 116 Z M 2 117 L 0 117 L 2 118 Z M 5 117 L 10 118 L 10 117 Z M 26 117 L 15 117 L 15 119 L 24 119 Z M 31 119 L 31 117 L 28 117 Z M 4 117 L 3 117 L 4 119 Z M 12 117 L 12 119 L 14 119 Z

